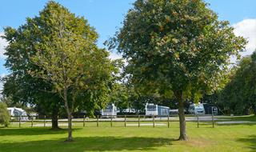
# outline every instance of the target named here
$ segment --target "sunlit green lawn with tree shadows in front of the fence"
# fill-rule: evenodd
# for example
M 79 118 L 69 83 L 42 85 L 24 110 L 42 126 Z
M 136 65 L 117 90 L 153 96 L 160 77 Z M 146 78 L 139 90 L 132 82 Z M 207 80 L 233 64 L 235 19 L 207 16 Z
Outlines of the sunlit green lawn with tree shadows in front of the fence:
M 254 116 L 236 118 L 255 121 Z M 137 122 L 138 123 L 138 122 Z M 150 122 L 141 122 L 146 124 Z M 50 130 L 50 126 L 30 127 L 30 123 L 17 123 L 0 128 L 0 151 L 256 151 L 256 123 L 218 125 L 211 122 L 186 122 L 188 142 L 177 141 L 179 123 L 166 126 L 124 126 L 124 122 L 73 122 L 74 142 L 64 142 L 67 126 Z M 34 122 L 43 124 L 42 122 Z M 61 123 L 62 124 L 62 123 Z M 136 122 L 127 122 L 136 124 Z

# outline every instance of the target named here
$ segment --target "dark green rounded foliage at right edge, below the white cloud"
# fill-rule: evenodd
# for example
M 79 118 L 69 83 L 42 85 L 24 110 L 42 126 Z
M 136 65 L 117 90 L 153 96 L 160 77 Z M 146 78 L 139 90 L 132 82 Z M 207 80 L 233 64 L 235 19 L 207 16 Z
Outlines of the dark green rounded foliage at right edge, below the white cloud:
M 253 54 L 242 58 L 233 67 L 233 74 L 226 87 L 216 93 L 222 105 L 234 114 L 256 113 L 256 50 Z

